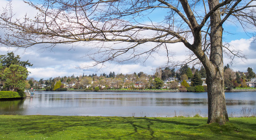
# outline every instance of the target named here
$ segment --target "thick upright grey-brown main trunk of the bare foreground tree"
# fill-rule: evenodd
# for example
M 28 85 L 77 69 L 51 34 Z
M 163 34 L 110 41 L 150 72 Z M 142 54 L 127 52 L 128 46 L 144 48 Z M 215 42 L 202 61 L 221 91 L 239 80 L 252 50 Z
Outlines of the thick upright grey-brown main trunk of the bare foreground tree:
M 219 0 L 208 0 L 209 9 L 215 7 Z M 207 72 L 207 88 L 208 88 L 208 122 L 217 122 L 224 125 L 229 121 L 224 91 L 224 67 L 223 67 L 223 49 L 222 49 L 222 33 L 223 28 L 219 25 L 221 21 L 220 11 L 217 10 L 210 16 L 210 62 L 206 66 Z M 209 67 L 210 66 L 210 67 Z

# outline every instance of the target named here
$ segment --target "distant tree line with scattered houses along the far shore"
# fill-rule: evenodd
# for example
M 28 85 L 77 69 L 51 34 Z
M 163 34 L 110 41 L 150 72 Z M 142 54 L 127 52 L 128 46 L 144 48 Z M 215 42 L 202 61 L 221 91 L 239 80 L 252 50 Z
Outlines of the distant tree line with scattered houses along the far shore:
M 234 72 L 227 64 L 224 67 L 225 87 L 230 90 L 235 87 L 247 87 L 246 82 L 255 77 L 252 68 L 248 72 Z M 39 81 L 30 78 L 27 80 L 27 88 L 46 88 L 47 91 L 65 91 L 67 88 L 95 90 L 95 89 L 179 89 L 180 91 L 207 91 L 206 70 L 203 66 L 196 69 L 188 65 L 181 66 L 178 70 L 175 68 L 159 68 L 154 75 L 147 75 L 140 71 L 132 74 L 115 74 L 110 71 L 109 74 L 101 73 L 99 76 L 89 74 L 80 76 L 55 77 L 49 79 L 40 79 Z

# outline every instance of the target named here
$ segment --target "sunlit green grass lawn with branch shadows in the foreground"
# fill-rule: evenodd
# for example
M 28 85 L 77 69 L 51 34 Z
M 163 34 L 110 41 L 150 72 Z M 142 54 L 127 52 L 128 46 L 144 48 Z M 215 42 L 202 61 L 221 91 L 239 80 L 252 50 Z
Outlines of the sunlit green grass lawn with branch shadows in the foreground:
M 207 118 L 133 118 L 0 115 L 3 140 L 255 140 L 256 118 L 230 118 L 224 126 Z

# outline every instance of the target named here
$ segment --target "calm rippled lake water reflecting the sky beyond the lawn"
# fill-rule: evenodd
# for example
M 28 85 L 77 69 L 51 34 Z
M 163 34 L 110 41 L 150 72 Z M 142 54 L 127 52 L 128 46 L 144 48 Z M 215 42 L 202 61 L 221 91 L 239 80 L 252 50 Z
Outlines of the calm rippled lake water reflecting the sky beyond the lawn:
M 242 107 L 256 113 L 256 92 L 226 92 L 229 116 Z M 195 92 L 50 92 L 36 91 L 30 98 L 0 101 L 0 114 L 65 116 L 207 117 L 207 93 Z

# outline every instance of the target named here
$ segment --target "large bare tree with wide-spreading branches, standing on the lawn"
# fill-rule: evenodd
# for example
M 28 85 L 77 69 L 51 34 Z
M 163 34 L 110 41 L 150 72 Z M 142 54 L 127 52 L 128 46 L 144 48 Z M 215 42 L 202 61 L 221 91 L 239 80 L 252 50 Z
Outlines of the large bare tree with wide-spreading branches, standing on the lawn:
M 31 47 L 46 44 L 103 42 L 95 47 L 91 58 L 96 64 L 124 62 L 141 56 L 153 56 L 165 49 L 171 62 L 170 44 L 183 43 L 191 50 L 186 63 L 199 60 L 207 72 L 208 123 L 225 124 L 223 53 L 238 56 L 222 42 L 223 24 L 239 23 L 245 29 L 255 27 L 254 0 L 42 0 L 30 19 L 14 19 L 13 11 L 5 9 L 0 16 L 2 46 Z M 10 5 L 10 4 L 9 4 Z M 11 5 L 10 8 L 11 9 Z M 165 14 L 155 22 L 155 11 Z M 108 46 L 104 42 L 128 42 Z M 148 42 L 154 46 L 143 46 Z M 123 56 L 129 54 L 128 56 Z M 97 57 L 94 57 L 97 56 Z M 198 62 L 199 62 L 198 61 Z

